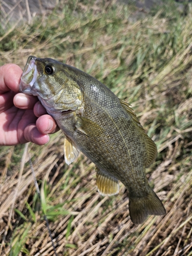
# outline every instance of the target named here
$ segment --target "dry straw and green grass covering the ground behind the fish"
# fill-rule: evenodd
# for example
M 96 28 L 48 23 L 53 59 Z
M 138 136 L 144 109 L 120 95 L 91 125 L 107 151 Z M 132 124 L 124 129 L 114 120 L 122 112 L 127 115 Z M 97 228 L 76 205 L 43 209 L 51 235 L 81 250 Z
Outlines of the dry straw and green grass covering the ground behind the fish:
M 95 76 L 132 104 L 158 147 L 158 157 L 146 172 L 167 211 L 166 216 L 151 216 L 134 225 L 124 186 L 117 196 L 100 196 L 94 164 L 81 154 L 68 166 L 58 132 L 47 145 L 28 147 L 41 208 L 26 157 L 11 214 L 24 145 L 1 147 L 2 255 L 54 254 L 42 212 L 48 216 L 58 255 L 191 255 L 192 17 L 188 7 L 184 15 L 175 2 L 167 1 L 143 13 L 110 1 L 66 0 L 47 15 L 36 15 L 31 24 L 21 21 L 5 29 L 2 23 L 0 65 L 14 62 L 23 68 L 29 55 L 52 57 Z

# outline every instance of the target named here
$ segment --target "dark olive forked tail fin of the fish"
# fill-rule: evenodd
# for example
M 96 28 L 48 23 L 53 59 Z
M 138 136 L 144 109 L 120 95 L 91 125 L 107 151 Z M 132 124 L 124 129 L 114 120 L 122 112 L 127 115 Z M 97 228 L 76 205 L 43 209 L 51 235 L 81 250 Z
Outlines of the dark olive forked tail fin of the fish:
M 130 197 L 130 218 L 133 223 L 141 224 L 148 215 L 165 215 L 166 210 L 153 190 L 146 197 Z

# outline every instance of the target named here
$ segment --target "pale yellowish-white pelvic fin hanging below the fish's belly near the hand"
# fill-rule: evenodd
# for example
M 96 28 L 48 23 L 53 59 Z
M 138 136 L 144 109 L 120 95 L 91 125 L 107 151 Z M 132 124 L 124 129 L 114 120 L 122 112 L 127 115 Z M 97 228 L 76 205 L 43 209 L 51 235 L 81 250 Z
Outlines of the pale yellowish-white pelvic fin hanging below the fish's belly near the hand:
M 66 135 L 64 137 L 64 154 L 65 154 L 65 161 L 69 165 L 72 163 L 79 155 L 79 149 L 75 145 L 75 143 L 68 138 Z

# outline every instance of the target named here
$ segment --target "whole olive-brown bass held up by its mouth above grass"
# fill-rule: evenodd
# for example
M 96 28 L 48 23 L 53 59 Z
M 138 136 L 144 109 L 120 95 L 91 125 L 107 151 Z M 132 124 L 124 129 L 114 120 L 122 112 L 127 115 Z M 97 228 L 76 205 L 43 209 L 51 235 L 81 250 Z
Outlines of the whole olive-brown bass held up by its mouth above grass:
M 82 152 L 96 166 L 96 185 L 102 196 L 128 190 L 134 224 L 166 210 L 146 178 L 145 168 L 157 157 L 129 103 L 119 99 L 91 75 L 52 58 L 29 56 L 19 90 L 37 96 L 64 133 L 65 161 Z

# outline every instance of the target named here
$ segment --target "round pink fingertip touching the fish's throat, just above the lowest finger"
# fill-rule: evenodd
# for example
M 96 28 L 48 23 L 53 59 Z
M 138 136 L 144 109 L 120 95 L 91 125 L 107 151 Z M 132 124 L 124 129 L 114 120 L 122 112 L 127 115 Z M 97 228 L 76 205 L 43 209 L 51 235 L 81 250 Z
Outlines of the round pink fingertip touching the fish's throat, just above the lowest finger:
M 42 115 L 36 121 L 36 126 L 41 134 L 51 134 L 59 130 L 57 123 L 50 115 Z

